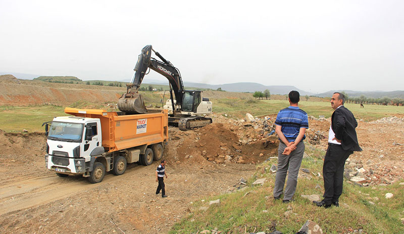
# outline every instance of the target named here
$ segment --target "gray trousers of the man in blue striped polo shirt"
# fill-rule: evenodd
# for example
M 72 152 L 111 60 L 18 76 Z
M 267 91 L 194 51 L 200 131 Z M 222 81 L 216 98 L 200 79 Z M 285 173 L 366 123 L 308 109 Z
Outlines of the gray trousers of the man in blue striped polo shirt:
M 303 159 L 303 153 L 305 152 L 305 144 L 303 141 L 300 141 L 297 144 L 296 149 L 289 155 L 282 154 L 285 148 L 286 145 L 282 141 L 279 142 L 278 170 L 275 177 L 274 197 L 278 197 L 282 194 L 286 174 L 289 172 L 283 200 L 290 200 L 296 191 L 297 175 L 299 174 L 301 160 Z

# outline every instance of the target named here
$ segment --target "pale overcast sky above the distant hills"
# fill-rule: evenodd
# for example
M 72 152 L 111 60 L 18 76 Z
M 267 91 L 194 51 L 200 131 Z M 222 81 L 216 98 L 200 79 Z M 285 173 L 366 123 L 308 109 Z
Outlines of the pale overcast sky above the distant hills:
M 0 71 L 131 80 L 150 44 L 183 82 L 404 90 L 403 9 L 388 0 L 0 0 Z M 167 81 L 153 70 L 147 79 Z

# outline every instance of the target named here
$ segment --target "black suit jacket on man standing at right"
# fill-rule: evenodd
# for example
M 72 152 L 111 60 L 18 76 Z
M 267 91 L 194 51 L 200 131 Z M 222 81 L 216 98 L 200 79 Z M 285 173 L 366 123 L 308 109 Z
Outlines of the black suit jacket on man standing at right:
M 331 128 L 335 133 L 335 138 L 341 140 L 344 150 L 362 151 L 359 147 L 357 132 L 355 128 L 358 122 L 354 114 L 344 106 L 339 107 L 332 113 Z

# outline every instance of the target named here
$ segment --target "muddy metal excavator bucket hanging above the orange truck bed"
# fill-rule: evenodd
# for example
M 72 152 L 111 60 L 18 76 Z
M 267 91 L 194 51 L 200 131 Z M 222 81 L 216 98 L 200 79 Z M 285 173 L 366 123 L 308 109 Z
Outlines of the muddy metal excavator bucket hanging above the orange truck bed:
M 143 97 L 140 94 L 123 94 L 118 100 L 118 109 L 130 114 L 145 114 L 147 113 L 144 106 Z

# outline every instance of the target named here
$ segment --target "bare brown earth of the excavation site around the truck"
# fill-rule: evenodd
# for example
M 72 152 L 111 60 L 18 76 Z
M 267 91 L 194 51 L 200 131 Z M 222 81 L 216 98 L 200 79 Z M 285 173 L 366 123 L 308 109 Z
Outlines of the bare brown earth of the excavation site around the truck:
M 4 84 L 14 92 L 5 91 Z M 49 100 L 60 93 L 70 103 L 77 92 L 99 92 L 99 87 L 68 85 L 66 89 L 66 84 L 26 82 L 13 77 L 0 80 L 0 86 L 2 105 L 4 100 L 13 104 L 16 97 L 22 96 L 27 104 L 46 102 L 29 99 L 24 91 L 39 94 L 37 90 L 52 88 L 55 91 L 49 94 Z M 77 89 L 72 91 L 73 87 Z M 114 89 L 120 89 L 102 88 L 102 96 L 111 94 L 106 98 L 111 100 L 117 97 Z M 273 121 L 274 116 L 270 117 Z M 0 233 L 167 233 L 194 209 L 191 202 L 225 193 L 241 177 L 249 178 L 257 164 L 276 156 L 276 136 L 266 137 L 254 124 L 220 114 L 214 114 L 213 121 L 187 132 L 169 128 L 170 139 L 164 150 L 168 161 L 167 198 L 155 194 L 157 162 L 148 167 L 128 165 L 125 174 L 108 173 L 98 184 L 90 184 L 80 176 L 59 178 L 45 169 L 43 133 L 0 131 Z M 305 144 L 325 150 L 330 119 L 310 119 L 309 126 Z M 359 121 L 357 132 L 364 150 L 355 152 L 350 159 L 372 170 L 369 186 L 402 179 L 404 119 Z M 368 164 L 369 160 L 372 162 Z M 271 162 L 276 164 L 276 159 Z

